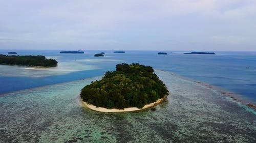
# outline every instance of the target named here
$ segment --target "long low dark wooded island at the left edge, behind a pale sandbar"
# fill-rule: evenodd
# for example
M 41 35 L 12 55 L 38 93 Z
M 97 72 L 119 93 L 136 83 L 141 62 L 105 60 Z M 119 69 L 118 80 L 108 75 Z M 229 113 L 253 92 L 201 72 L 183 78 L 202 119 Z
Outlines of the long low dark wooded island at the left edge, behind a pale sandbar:
M 4 55 L 0 54 L 0 64 L 56 67 L 57 61 L 46 59 L 43 55 Z

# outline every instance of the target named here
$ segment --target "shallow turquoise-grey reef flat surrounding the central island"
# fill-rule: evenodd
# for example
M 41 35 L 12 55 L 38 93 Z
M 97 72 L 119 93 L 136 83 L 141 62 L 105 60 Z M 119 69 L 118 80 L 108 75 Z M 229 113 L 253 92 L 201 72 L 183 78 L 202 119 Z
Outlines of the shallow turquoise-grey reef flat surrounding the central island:
M 155 70 L 170 95 L 154 109 L 102 113 L 79 93 L 94 77 L 0 97 L 0 142 L 256 142 L 256 112 L 217 90 Z

